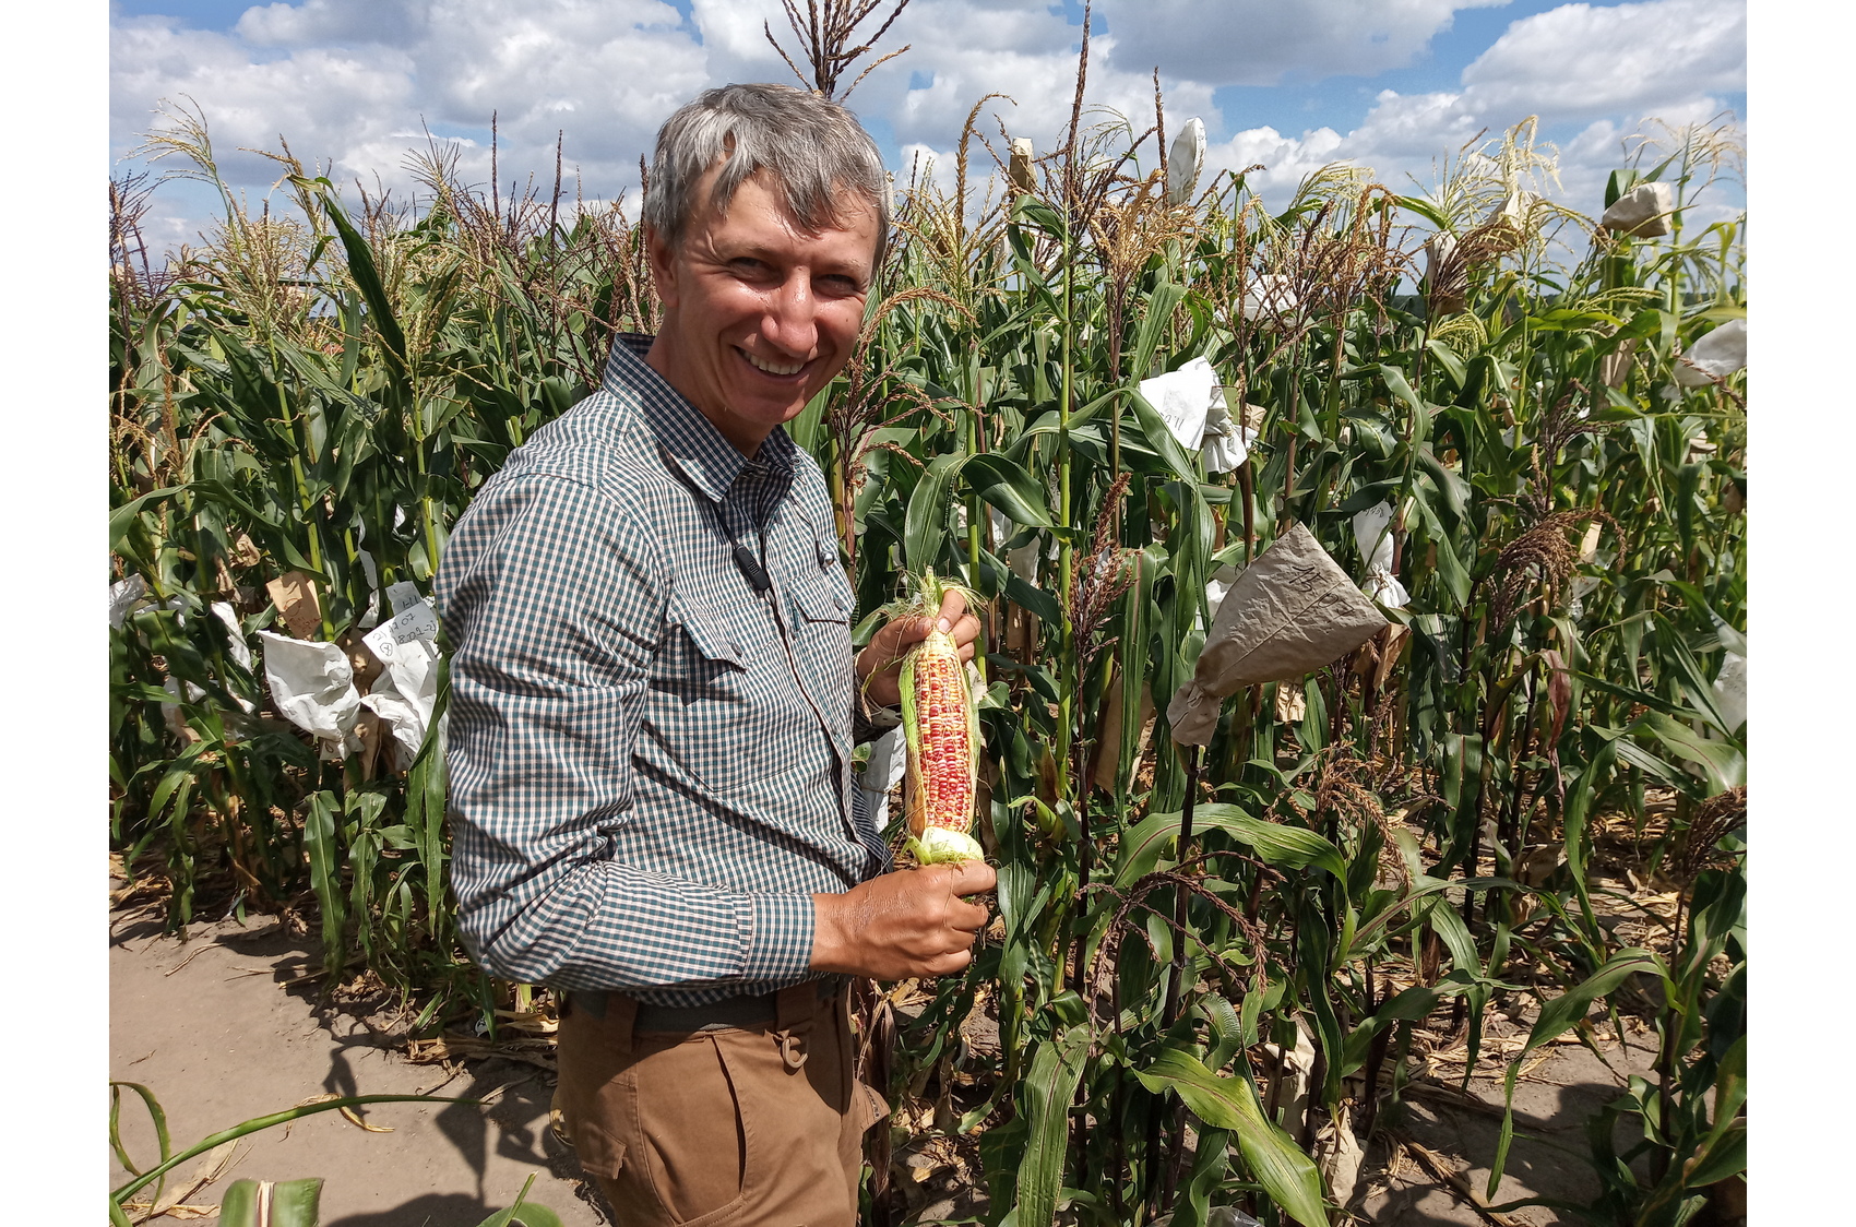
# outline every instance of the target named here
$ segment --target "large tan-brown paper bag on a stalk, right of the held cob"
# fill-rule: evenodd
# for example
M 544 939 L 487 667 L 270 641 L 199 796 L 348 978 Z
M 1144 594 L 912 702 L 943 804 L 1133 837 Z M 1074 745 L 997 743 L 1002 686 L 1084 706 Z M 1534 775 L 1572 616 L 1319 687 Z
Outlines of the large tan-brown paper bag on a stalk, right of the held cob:
M 1301 523 L 1251 562 L 1218 605 L 1192 679 L 1167 705 L 1173 741 L 1205 746 L 1238 687 L 1294 681 L 1347 655 L 1386 624 Z

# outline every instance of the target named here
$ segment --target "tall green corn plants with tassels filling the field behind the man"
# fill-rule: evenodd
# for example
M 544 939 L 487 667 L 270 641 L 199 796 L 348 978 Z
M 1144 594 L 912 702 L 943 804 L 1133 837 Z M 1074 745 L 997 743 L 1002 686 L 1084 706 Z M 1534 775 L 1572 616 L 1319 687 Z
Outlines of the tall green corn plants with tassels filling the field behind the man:
M 1000 1056 L 960 1060 L 993 1223 L 1175 1199 L 1182 1221 L 1242 1201 L 1314 1223 L 1338 1199 L 1318 1123 L 1370 1127 L 1416 1023 L 1450 1012 L 1474 1066 L 1494 997 L 1542 1001 L 1533 1049 L 1654 976 L 1657 1078 L 1594 1125 L 1585 1214 L 1683 1221 L 1745 1155 L 1746 733 L 1717 679 L 1746 653 L 1746 377 L 1672 375 L 1745 316 L 1743 219 L 1652 241 L 1503 212 L 1546 165 L 1526 126 L 1424 199 L 1331 167 L 1275 215 L 1242 176 L 1167 212 L 1128 136 L 1080 134 L 1050 191 L 986 208 L 911 187 L 852 364 L 793 423 L 861 611 L 932 568 L 987 624 L 978 828 L 1004 939 L 902 1027 L 891 1091 L 945 1090 L 991 1001 Z M 1652 173 L 1685 204 L 1732 149 L 1678 136 Z M 429 585 L 471 490 L 655 303 L 616 212 L 496 215 L 442 165 L 419 208 L 356 210 L 297 171 L 288 219 L 228 202 L 171 278 L 113 278 L 111 577 L 148 601 L 111 631 L 111 837 L 171 880 L 176 923 L 226 874 L 249 906 L 314 898 L 330 975 L 488 1017 L 503 989 L 449 919 L 436 720 L 405 774 L 323 763 L 208 609 L 249 637 L 301 572 L 312 637 L 349 642 L 379 588 Z M 1453 252 L 1414 278 L 1437 228 Z M 1234 473 L 1140 392 L 1201 356 L 1255 433 Z M 1351 518 L 1381 505 L 1394 627 L 1240 691 L 1179 754 L 1166 707 L 1208 583 L 1295 522 L 1364 583 Z M 1669 956 L 1618 950 L 1594 906 L 1596 832 L 1643 832 L 1648 789 L 1687 917 Z M 1288 1119 L 1299 1034 L 1312 1104 Z M 1641 1143 L 1615 1155 L 1622 1119 Z

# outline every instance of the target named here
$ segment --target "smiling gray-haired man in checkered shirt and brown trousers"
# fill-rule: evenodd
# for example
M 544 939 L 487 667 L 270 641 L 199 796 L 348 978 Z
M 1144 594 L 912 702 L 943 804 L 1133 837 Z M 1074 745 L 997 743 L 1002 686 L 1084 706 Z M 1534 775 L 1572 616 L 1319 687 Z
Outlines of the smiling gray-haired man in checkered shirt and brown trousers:
M 850 358 L 887 182 L 844 108 L 728 85 L 659 132 L 644 225 L 661 332 L 484 483 L 438 574 L 458 923 L 568 989 L 557 1103 L 624 1223 L 848 1227 L 885 1110 L 846 976 L 961 971 L 993 887 L 883 872 L 859 692 L 896 702 L 930 626 L 852 659 L 826 486 L 780 429 Z M 960 598 L 939 626 L 973 655 Z

